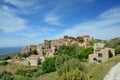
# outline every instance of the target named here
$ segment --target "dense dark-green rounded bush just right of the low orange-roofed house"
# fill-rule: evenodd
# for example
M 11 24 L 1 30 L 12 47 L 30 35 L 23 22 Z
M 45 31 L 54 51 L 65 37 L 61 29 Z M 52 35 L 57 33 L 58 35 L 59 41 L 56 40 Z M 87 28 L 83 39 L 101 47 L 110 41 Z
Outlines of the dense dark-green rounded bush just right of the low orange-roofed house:
M 46 58 L 46 60 L 42 63 L 42 70 L 44 73 L 49 73 L 56 70 L 55 60 L 56 60 L 55 57 Z

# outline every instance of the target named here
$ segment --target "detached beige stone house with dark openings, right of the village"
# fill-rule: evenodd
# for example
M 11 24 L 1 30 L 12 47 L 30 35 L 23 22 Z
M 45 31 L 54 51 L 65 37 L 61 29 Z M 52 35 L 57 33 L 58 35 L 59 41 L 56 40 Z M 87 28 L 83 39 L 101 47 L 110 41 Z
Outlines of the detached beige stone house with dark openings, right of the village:
M 97 44 L 97 43 L 96 43 Z M 115 56 L 115 49 L 113 48 L 104 48 L 104 43 L 98 43 L 99 45 L 94 45 L 94 50 L 98 48 L 101 48 L 99 51 L 95 51 L 93 54 L 89 54 L 89 62 L 90 63 L 101 63 L 106 61 L 107 59 Z

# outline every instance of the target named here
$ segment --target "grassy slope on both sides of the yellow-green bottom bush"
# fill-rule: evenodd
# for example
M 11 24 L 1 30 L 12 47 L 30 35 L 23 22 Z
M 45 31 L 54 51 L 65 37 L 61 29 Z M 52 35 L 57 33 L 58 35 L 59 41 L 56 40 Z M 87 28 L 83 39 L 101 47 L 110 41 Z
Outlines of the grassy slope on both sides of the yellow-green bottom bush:
M 101 64 L 90 65 L 85 63 L 85 65 L 88 69 L 88 75 L 90 75 L 93 80 L 103 80 L 103 78 L 109 72 L 109 70 L 118 62 L 120 62 L 120 55 L 115 56 L 114 58 L 111 58 L 108 61 Z M 57 72 L 51 72 L 40 76 L 36 80 L 56 80 L 57 77 Z

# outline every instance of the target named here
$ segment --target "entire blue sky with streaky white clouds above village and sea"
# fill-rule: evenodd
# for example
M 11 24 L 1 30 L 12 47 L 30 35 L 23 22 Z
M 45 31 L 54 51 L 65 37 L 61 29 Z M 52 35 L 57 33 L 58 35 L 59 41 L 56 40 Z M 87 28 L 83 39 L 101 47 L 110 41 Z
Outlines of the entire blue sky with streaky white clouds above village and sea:
M 0 0 L 0 47 L 83 34 L 120 37 L 120 0 Z

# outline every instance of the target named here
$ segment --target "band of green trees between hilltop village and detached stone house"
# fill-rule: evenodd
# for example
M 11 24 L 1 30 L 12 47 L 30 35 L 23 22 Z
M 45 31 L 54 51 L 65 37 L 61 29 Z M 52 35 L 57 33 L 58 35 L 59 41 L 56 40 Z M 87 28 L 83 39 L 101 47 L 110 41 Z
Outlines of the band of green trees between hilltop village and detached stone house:
M 83 48 L 83 47 L 79 47 L 79 46 L 76 46 L 76 45 L 70 45 L 70 46 L 60 46 L 57 54 L 59 55 L 69 55 L 71 57 L 74 57 L 74 58 L 79 58 L 80 60 L 83 60 L 83 59 L 88 59 L 88 55 L 93 53 L 93 48 L 90 47 L 90 48 Z

